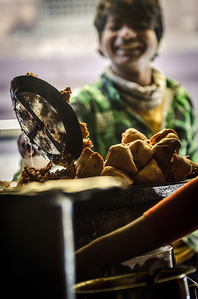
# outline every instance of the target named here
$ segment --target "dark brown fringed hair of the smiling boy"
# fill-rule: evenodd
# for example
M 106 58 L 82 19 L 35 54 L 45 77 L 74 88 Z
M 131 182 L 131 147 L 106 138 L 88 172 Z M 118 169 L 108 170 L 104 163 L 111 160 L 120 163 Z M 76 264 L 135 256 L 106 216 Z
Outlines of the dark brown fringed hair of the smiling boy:
M 162 38 L 162 11 L 158 0 L 99 0 L 94 25 L 99 38 L 109 15 L 119 14 L 127 18 L 144 19 L 153 23 L 158 42 Z

